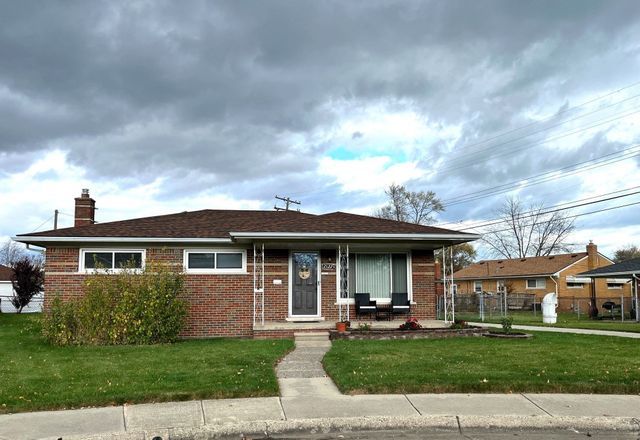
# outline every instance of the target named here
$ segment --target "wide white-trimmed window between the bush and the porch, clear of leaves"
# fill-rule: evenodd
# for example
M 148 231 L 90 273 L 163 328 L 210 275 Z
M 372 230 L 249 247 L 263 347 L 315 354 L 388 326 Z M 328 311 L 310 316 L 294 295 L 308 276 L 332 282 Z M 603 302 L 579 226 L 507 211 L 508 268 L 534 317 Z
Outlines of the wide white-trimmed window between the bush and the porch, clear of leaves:
M 186 249 L 187 273 L 246 273 L 247 251 L 237 249 Z

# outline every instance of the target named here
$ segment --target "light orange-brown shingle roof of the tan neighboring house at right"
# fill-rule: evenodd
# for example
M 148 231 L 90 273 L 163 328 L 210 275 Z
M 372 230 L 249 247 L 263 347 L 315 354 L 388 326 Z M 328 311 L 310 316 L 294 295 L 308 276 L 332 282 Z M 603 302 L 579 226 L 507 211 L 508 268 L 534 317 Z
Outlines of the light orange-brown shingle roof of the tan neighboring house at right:
M 548 257 L 527 257 L 486 260 L 473 263 L 453 274 L 454 279 L 508 278 L 554 274 L 586 257 L 586 252 L 558 254 Z

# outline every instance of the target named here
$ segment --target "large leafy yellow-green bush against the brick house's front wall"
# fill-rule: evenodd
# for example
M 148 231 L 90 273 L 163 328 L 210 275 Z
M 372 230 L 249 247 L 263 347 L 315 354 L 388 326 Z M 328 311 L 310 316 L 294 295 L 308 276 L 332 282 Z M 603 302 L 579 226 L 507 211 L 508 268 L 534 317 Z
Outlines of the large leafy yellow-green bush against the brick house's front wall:
M 166 265 L 92 274 L 81 298 L 54 299 L 43 317 L 43 333 L 57 345 L 172 342 L 187 315 L 183 287 L 183 275 Z

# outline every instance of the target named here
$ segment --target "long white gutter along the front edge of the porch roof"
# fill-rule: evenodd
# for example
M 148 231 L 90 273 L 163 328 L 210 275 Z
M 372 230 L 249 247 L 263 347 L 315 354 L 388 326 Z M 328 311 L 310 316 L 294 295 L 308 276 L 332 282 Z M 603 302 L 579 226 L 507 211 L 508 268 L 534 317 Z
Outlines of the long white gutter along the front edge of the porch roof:
M 277 239 L 349 239 L 349 240 L 477 240 L 477 234 L 380 234 L 348 232 L 230 232 L 234 238 L 277 240 Z

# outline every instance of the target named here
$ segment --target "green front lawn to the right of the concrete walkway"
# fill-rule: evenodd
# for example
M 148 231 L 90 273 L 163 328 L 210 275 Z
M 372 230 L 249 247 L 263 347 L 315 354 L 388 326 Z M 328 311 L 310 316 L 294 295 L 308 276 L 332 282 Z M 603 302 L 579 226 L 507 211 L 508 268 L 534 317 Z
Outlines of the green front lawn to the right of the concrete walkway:
M 640 393 L 640 341 L 536 333 L 334 341 L 324 366 L 344 393 Z

